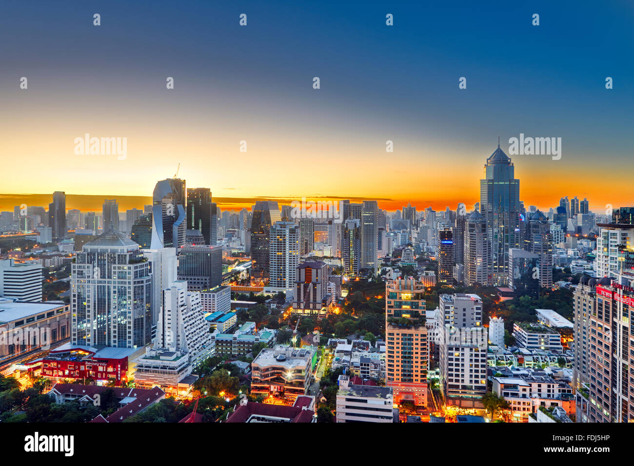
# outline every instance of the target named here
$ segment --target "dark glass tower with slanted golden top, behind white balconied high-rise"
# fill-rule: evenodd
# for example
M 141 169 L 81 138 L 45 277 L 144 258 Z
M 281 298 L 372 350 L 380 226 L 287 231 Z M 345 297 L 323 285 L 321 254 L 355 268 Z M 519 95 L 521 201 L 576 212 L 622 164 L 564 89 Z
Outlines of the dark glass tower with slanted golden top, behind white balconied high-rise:
M 259 200 L 253 209 L 251 221 L 251 276 L 258 282 L 269 278 L 269 240 L 271 226 L 281 221 L 278 203 Z

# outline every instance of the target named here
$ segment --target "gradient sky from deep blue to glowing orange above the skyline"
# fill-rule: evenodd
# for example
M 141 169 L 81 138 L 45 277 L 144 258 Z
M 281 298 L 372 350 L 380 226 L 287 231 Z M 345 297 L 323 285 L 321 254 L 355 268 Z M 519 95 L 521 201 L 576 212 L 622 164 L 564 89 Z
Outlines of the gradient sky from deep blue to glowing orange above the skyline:
M 147 197 L 179 162 L 221 207 L 469 206 L 498 134 L 508 152 L 520 133 L 562 138 L 561 160 L 512 157 L 526 205 L 631 204 L 633 4 L 439 3 L 4 0 L 0 209 L 15 193 Z M 126 137 L 127 159 L 75 155 L 84 133 Z

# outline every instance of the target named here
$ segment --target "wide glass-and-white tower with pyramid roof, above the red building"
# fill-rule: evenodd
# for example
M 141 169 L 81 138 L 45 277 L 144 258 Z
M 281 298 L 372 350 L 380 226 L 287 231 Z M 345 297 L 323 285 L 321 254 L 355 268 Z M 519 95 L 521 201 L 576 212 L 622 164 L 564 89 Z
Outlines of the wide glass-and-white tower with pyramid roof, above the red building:
M 152 277 L 139 245 L 112 228 L 72 264 L 74 345 L 134 348 L 152 339 Z

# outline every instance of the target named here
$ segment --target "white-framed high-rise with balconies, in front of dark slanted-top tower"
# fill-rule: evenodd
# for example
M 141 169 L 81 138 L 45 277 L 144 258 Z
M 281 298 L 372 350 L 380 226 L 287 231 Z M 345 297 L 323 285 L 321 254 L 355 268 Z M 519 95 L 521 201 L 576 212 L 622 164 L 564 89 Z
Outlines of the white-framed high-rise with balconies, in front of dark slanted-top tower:
M 275 222 L 269 244 L 269 287 L 292 292 L 299 263 L 299 226 L 294 222 Z

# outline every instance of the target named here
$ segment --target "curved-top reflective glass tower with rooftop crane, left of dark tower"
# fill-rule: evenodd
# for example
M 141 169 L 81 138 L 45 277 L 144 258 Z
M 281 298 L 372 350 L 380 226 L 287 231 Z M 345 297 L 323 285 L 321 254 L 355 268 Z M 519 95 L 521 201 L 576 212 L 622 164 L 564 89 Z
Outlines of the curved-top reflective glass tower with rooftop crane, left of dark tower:
M 168 178 L 157 183 L 153 193 L 152 248 L 176 247 L 185 243 L 187 230 L 185 180 Z

